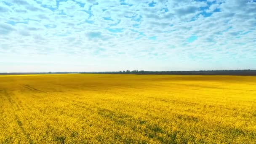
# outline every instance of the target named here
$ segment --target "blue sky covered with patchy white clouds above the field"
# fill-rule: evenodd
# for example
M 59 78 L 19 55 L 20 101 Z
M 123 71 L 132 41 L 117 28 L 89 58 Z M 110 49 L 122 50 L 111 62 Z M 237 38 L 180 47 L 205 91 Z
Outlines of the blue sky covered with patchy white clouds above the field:
M 0 0 L 0 72 L 256 69 L 256 0 Z

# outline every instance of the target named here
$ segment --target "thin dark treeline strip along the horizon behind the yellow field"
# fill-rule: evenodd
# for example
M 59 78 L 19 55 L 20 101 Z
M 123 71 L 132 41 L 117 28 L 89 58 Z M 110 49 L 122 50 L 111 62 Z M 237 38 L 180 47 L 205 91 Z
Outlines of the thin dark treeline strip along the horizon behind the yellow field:
M 256 76 L 256 70 L 199 70 L 199 71 L 144 71 L 144 70 L 126 70 L 119 72 L 10 72 L 0 73 L 0 75 L 29 75 L 29 74 L 135 74 L 135 75 L 244 75 Z

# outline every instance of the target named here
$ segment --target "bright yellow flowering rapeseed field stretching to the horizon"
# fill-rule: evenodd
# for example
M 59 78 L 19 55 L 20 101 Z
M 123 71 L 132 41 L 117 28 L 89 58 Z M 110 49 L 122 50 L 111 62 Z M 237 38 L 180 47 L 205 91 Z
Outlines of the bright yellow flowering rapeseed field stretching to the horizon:
M 256 143 L 256 77 L 0 75 L 0 144 Z

